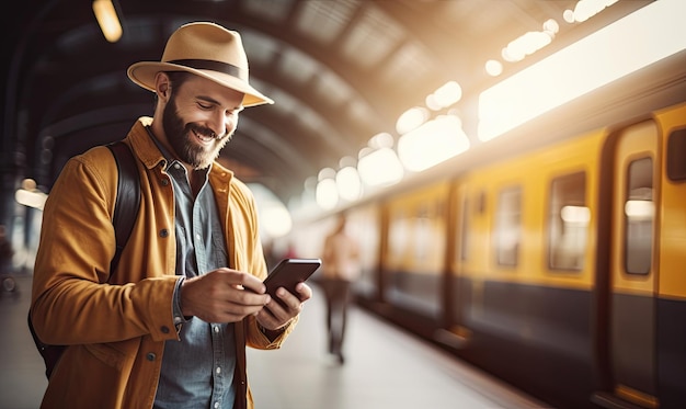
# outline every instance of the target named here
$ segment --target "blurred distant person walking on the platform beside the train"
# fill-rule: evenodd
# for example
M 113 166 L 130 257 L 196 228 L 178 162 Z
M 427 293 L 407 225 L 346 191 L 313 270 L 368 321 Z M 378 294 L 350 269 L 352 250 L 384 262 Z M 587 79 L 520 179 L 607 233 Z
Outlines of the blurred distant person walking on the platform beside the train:
M 351 284 L 359 275 L 359 248 L 345 231 L 346 217 L 341 215 L 333 231 L 324 240 L 322 284 L 327 296 L 327 330 L 329 352 L 344 363 L 343 339 L 351 300 Z

